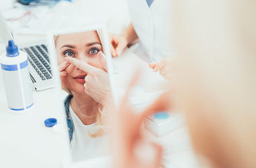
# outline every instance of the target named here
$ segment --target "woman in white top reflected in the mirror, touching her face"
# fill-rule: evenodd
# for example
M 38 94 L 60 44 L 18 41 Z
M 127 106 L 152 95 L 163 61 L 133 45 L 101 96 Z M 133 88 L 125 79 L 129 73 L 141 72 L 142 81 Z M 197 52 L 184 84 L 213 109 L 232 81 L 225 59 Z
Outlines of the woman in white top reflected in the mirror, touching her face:
M 101 72 L 102 78 L 108 82 L 106 68 L 101 62 L 103 47 L 98 32 L 58 35 L 55 37 L 55 47 L 62 88 L 69 94 L 65 100 L 65 108 L 74 160 L 102 155 L 102 110 L 105 93 L 109 91 L 108 83 L 94 88 L 98 89 L 98 96 L 88 89 L 95 80 L 93 72 L 72 64 L 74 60 L 82 61 L 94 68 L 94 72 Z M 70 61 L 67 57 L 74 60 Z

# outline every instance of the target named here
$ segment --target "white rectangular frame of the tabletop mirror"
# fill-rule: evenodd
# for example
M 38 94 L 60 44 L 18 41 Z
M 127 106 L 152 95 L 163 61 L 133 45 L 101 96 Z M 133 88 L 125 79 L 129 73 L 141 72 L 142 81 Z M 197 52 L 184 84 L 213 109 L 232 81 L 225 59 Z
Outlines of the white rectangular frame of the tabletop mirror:
M 90 21 L 89 21 L 90 22 Z M 61 80 L 59 77 L 59 72 L 58 72 L 58 62 L 57 62 L 57 55 L 56 55 L 56 50 L 55 50 L 55 43 L 54 43 L 54 36 L 58 34 L 63 34 L 63 33 L 77 33 L 77 32 L 85 32 L 85 31 L 92 31 L 96 29 L 101 29 L 102 32 L 102 43 L 104 45 L 104 53 L 106 55 L 106 64 L 107 64 L 107 70 L 109 73 L 109 79 L 110 79 L 110 88 L 111 92 L 113 95 L 113 68 L 112 68 L 112 61 L 111 61 L 111 53 L 110 53 L 110 40 L 108 36 L 108 32 L 106 29 L 106 21 L 93 21 L 93 23 L 90 22 L 90 24 L 86 26 L 82 26 L 79 28 L 74 28 L 74 29 L 63 29 L 58 32 L 50 32 L 47 34 L 47 39 L 48 39 L 48 44 L 49 44 L 49 53 L 50 53 L 50 64 L 52 67 L 52 74 L 54 76 L 54 87 L 58 88 L 59 91 L 62 91 L 62 84 Z M 66 116 L 63 111 L 65 111 L 62 99 L 56 100 L 58 101 L 57 103 L 60 104 L 59 112 L 62 112 L 62 117 L 64 120 L 66 120 Z M 62 166 L 67 167 L 67 168 L 80 168 L 80 167 L 110 167 L 111 165 L 111 156 L 106 156 L 106 157 L 98 157 L 98 158 L 90 158 L 90 159 L 85 159 L 79 162 L 73 162 L 72 161 L 72 156 L 71 156 L 71 150 L 70 150 L 70 139 L 67 131 L 67 124 L 64 124 L 64 129 L 65 129 L 65 137 L 66 139 L 63 139 L 66 143 L 66 154 L 65 157 L 63 158 Z

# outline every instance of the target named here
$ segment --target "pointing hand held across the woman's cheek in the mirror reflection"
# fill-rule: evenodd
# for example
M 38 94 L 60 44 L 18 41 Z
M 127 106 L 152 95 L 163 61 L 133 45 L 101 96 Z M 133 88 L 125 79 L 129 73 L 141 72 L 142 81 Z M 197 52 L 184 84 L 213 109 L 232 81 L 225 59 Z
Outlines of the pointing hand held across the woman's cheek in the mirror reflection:
M 105 56 L 100 52 L 97 57 L 105 68 L 104 70 L 95 68 L 94 66 L 91 66 L 84 61 L 79 61 L 73 57 L 66 57 L 65 59 L 66 61 L 69 61 L 70 64 L 74 64 L 76 67 L 87 73 L 85 78 L 86 83 L 84 84 L 86 94 L 104 106 L 108 101 L 112 100 L 112 96 L 109 76 L 106 70 Z

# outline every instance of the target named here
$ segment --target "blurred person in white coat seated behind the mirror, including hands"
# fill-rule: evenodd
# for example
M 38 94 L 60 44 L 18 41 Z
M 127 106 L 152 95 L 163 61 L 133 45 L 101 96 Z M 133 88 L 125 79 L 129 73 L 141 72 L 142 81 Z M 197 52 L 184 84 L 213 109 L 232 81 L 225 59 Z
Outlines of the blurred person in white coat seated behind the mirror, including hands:
M 174 57 L 174 33 L 170 0 L 129 0 L 131 23 L 121 34 L 110 34 L 111 53 L 118 57 L 127 46 L 167 80 Z

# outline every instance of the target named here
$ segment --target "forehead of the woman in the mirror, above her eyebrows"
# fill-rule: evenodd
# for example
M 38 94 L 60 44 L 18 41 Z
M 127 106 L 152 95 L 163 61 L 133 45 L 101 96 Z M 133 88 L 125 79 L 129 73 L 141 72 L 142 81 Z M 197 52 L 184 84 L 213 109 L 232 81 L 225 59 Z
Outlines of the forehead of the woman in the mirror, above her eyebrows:
M 56 41 L 56 45 L 65 45 L 65 44 L 86 44 L 90 42 L 100 42 L 98 33 L 94 31 L 87 31 L 81 33 L 69 33 L 59 35 Z

